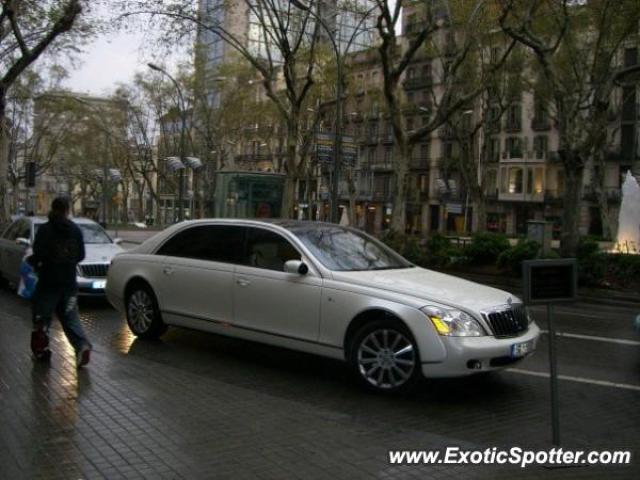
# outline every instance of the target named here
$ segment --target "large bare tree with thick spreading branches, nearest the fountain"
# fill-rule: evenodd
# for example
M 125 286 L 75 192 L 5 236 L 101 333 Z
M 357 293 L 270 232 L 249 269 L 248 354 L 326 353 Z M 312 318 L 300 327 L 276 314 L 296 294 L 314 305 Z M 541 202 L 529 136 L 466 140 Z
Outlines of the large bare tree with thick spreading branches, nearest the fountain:
M 500 3 L 500 25 L 532 52 L 558 130 L 558 155 L 565 174 L 561 251 L 573 256 L 585 169 L 594 155 L 600 159 L 596 164 L 602 165 L 616 83 L 639 68 L 621 68 L 616 61 L 625 40 L 637 33 L 640 5 L 634 0 Z M 604 172 L 600 174 L 604 177 Z M 599 190 L 606 218 L 609 207 L 603 189 Z M 604 223 L 610 224 L 610 219 Z

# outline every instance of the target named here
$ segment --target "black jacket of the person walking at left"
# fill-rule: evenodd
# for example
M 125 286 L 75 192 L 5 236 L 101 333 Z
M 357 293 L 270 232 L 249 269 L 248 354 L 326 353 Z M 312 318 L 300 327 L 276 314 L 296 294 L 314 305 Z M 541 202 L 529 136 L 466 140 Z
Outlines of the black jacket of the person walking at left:
M 71 220 L 50 215 L 38 229 L 30 263 L 42 288 L 75 288 L 76 267 L 84 259 L 82 232 Z

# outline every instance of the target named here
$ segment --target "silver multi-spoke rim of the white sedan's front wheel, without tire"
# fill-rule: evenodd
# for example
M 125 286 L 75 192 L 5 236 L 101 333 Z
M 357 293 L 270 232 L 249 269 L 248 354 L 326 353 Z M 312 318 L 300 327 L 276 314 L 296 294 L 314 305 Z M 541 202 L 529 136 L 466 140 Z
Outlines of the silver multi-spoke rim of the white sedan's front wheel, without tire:
M 397 330 L 374 330 L 358 346 L 358 369 L 376 388 L 394 389 L 404 385 L 416 367 L 413 343 Z

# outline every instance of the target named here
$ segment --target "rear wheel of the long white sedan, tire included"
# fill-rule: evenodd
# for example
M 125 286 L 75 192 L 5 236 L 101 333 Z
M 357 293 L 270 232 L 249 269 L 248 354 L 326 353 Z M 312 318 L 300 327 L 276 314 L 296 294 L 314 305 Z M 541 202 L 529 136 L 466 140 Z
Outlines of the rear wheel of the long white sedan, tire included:
M 158 338 L 167 331 L 153 289 L 145 283 L 134 284 L 126 296 L 127 324 L 140 338 Z

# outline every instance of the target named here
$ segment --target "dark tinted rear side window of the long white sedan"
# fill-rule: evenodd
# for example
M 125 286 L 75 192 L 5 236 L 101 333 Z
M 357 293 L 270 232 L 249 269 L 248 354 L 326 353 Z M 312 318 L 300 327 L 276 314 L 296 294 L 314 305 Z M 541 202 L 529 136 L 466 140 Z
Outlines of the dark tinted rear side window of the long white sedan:
M 171 237 L 156 254 L 213 262 L 240 263 L 243 243 L 244 227 L 197 225 Z

